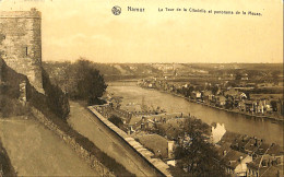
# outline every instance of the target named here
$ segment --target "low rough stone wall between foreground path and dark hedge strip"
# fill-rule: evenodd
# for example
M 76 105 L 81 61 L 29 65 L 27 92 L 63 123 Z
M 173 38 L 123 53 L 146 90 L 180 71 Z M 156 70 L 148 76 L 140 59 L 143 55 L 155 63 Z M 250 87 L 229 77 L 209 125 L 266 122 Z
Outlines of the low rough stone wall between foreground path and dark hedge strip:
M 32 113 L 42 123 L 44 123 L 48 129 L 52 130 L 57 135 L 59 135 L 67 144 L 69 144 L 79 155 L 82 157 L 91 168 L 98 172 L 98 176 L 115 177 L 114 173 L 105 167 L 95 156 L 95 154 L 86 151 L 81 144 L 79 144 L 75 139 L 71 138 L 69 134 L 61 131 L 51 120 L 46 118 L 40 111 L 32 108 Z

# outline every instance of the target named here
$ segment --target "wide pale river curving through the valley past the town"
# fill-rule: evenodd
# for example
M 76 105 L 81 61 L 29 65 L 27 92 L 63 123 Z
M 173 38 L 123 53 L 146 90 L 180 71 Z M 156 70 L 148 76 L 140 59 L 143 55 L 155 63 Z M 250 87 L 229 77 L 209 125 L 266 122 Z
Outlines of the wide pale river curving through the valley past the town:
M 226 130 L 232 132 L 256 135 L 259 139 L 264 139 L 268 143 L 283 144 L 283 125 L 274 123 L 271 120 L 262 120 L 190 103 L 168 93 L 139 87 L 135 83 L 111 82 L 107 91 L 116 96 L 122 96 L 123 105 L 128 103 L 141 105 L 143 102 L 147 106 L 159 106 L 168 113 L 190 114 L 209 125 L 213 122 L 224 123 Z

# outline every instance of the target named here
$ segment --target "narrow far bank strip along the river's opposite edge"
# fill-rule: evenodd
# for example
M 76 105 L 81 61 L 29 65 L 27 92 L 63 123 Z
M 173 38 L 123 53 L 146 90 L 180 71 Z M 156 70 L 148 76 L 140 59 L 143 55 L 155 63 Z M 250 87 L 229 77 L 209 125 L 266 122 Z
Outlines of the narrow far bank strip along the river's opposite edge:
M 140 86 L 140 87 L 142 87 L 142 86 Z M 142 88 L 147 88 L 147 87 L 142 87 Z M 149 88 L 149 90 L 155 90 L 155 88 Z M 206 103 L 201 103 L 201 102 L 198 102 L 198 101 L 194 101 L 194 99 L 190 99 L 190 98 L 188 98 L 188 97 L 186 97 L 184 95 L 179 95 L 179 94 L 176 94 L 176 93 L 162 91 L 162 90 L 155 90 L 155 91 L 158 91 L 158 92 L 162 92 L 162 93 L 166 93 L 166 94 L 170 94 L 173 96 L 181 97 L 181 98 L 184 98 L 184 99 L 186 99 L 186 101 L 188 101 L 190 103 L 208 106 L 208 107 L 215 108 L 215 109 L 218 109 L 218 110 L 224 110 L 224 111 L 228 111 L 228 113 L 239 114 L 239 115 L 249 116 L 249 117 L 253 117 L 253 118 L 269 119 L 273 123 L 283 123 L 284 122 L 284 119 L 280 119 L 280 118 L 276 118 L 276 117 L 271 117 L 271 116 L 267 116 L 267 115 L 252 115 L 252 114 L 239 111 L 239 110 L 236 110 L 236 109 L 235 110 L 234 109 L 225 109 L 225 108 L 216 107 L 214 105 L 210 105 L 210 104 L 206 104 Z

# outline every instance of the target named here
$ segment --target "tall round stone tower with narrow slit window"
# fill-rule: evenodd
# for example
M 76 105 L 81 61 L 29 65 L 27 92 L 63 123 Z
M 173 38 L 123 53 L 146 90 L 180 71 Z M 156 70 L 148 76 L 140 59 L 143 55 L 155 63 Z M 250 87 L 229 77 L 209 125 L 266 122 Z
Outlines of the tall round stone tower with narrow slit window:
M 0 11 L 0 54 L 10 68 L 26 75 L 44 93 L 39 11 Z

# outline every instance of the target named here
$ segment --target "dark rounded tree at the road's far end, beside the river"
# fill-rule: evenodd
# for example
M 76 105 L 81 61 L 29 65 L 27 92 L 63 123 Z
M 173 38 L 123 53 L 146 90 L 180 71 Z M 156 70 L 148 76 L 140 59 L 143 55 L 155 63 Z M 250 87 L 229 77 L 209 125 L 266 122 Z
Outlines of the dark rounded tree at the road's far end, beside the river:
M 96 103 L 107 87 L 104 76 L 94 69 L 91 61 L 80 59 L 74 63 L 74 67 L 75 97 L 87 101 L 90 105 Z

